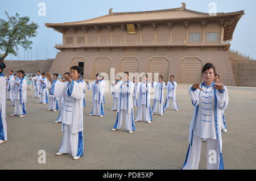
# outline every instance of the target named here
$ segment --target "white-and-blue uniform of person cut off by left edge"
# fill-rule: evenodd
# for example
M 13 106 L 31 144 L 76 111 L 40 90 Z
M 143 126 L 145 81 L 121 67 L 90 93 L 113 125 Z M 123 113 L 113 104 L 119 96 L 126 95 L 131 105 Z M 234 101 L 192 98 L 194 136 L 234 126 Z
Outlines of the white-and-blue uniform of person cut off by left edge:
M 7 125 L 6 125 L 6 79 L 0 73 L 0 140 L 7 140 Z

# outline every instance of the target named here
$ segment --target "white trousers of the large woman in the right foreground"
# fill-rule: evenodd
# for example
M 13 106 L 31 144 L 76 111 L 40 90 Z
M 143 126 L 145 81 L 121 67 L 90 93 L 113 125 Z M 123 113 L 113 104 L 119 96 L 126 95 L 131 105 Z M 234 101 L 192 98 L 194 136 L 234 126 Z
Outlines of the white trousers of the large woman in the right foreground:
M 187 163 L 183 170 L 197 170 L 200 162 L 201 147 L 203 138 L 193 134 L 192 146 L 188 151 Z M 218 148 L 218 141 L 207 139 L 207 170 L 218 170 L 220 163 L 220 151 Z

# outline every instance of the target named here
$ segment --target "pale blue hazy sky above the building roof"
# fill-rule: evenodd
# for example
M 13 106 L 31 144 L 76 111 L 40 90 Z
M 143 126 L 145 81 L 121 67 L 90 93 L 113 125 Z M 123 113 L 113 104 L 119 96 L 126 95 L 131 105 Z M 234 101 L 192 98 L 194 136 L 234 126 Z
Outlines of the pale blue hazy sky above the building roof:
M 16 12 L 20 16 L 29 16 L 39 24 L 38 35 L 32 39 L 32 51 L 19 49 L 19 60 L 45 60 L 55 58 L 57 50 L 55 43 L 62 43 L 61 33 L 46 28 L 45 23 L 63 23 L 96 18 L 106 15 L 112 7 L 113 12 L 162 10 L 181 7 L 185 2 L 187 9 L 209 12 L 209 4 L 216 3 L 217 12 L 233 12 L 245 10 L 245 15 L 237 24 L 231 41 L 231 48 L 256 58 L 256 7 L 255 0 L 0 0 L 0 18 L 6 19 L 5 11 L 10 15 Z M 39 3 L 46 5 L 46 16 L 39 16 Z M 32 52 L 32 53 L 31 53 Z M 38 52 L 38 53 L 36 53 Z M 1 52 L 3 53 L 3 52 Z M 18 60 L 18 57 L 8 56 L 6 60 Z

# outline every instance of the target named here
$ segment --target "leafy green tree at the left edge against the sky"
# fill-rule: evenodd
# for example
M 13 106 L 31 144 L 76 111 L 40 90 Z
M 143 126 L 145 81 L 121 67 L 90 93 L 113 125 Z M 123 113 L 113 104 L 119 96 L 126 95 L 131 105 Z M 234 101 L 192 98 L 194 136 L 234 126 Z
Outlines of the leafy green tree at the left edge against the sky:
M 0 49 L 5 52 L 0 54 L 0 63 L 9 54 L 17 56 L 18 46 L 31 49 L 31 37 L 38 33 L 38 24 L 31 22 L 28 16 L 20 17 L 18 13 L 10 16 L 6 11 L 7 20 L 0 19 Z

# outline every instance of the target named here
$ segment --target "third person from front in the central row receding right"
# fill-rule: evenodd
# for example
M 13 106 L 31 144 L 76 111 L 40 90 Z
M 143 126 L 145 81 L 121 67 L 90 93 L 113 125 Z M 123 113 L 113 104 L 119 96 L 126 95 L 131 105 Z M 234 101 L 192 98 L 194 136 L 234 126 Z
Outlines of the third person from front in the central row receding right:
M 161 116 L 164 113 L 164 89 L 166 84 L 163 82 L 163 76 L 158 76 L 158 82 L 152 82 L 154 88 L 154 103 L 152 106 L 152 115 L 158 112 Z

